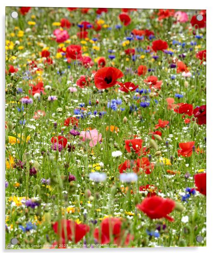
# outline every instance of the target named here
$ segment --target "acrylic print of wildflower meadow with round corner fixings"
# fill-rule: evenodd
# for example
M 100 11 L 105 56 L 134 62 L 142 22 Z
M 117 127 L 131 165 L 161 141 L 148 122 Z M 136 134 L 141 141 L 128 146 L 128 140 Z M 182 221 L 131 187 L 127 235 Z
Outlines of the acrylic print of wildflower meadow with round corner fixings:
M 206 245 L 205 40 L 205 10 L 6 8 L 6 249 Z

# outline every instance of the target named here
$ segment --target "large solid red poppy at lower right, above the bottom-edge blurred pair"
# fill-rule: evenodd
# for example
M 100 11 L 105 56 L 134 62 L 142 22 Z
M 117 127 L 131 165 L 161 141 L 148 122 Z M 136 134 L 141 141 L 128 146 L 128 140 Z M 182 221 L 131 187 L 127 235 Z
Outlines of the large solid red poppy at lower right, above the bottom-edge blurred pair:
M 165 218 L 174 221 L 170 214 L 175 208 L 175 202 L 172 199 L 164 199 L 159 196 L 147 197 L 141 204 L 137 205 L 141 212 L 144 212 L 150 219 Z

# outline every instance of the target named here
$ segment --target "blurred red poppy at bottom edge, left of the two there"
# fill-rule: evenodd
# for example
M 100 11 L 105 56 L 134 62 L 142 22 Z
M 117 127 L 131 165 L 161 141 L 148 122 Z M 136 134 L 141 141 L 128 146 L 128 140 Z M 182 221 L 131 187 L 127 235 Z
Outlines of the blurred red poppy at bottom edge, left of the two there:
M 53 224 L 53 230 L 59 234 L 61 239 L 75 240 L 75 243 L 80 241 L 88 232 L 89 226 L 86 224 L 77 224 L 69 219 L 62 219 L 60 225 L 60 232 L 58 231 L 59 222 Z M 65 232 L 66 231 L 66 232 Z M 59 233 L 58 233 L 59 232 Z

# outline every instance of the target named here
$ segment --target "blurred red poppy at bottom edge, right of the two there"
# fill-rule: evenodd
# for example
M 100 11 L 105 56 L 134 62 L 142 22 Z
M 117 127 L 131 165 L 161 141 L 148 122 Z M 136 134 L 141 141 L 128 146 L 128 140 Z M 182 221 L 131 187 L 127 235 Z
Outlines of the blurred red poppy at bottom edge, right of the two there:
M 109 244 L 112 236 L 114 244 L 117 244 L 117 246 L 128 245 L 133 237 L 130 234 L 127 234 L 124 244 L 121 244 L 125 234 L 125 230 L 122 229 L 122 224 L 123 221 L 120 218 L 106 218 L 100 224 L 101 231 L 99 228 L 95 229 L 94 238 L 97 239 L 100 244 Z

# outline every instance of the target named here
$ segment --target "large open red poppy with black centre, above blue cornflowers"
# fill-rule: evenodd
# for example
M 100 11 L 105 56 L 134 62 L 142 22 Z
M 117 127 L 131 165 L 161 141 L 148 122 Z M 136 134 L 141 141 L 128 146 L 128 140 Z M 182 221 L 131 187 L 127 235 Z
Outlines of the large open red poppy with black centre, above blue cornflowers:
M 99 69 L 94 75 L 95 85 L 98 89 L 107 89 L 118 83 L 117 79 L 123 77 L 123 72 L 114 67 Z

